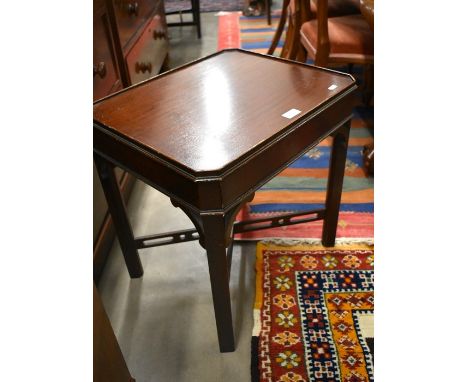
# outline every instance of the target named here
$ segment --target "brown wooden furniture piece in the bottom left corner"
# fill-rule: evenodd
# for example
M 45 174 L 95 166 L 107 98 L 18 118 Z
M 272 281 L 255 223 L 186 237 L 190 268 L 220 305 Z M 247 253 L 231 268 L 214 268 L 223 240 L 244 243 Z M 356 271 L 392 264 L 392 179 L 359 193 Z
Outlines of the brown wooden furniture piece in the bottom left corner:
M 93 284 L 93 381 L 135 382 Z

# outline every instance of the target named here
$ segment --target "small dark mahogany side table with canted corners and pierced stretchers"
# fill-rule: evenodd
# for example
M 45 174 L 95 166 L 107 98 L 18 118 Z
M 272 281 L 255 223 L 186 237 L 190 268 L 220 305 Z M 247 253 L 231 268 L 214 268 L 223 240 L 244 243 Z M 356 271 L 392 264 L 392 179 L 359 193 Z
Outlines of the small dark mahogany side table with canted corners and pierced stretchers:
M 334 245 L 356 88 L 347 74 L 234 49 L 94 104 L 94 160 L 130 277 L 143 275 L 139 249 L 199 240 L 221 352 L 235 349 L 234 233 L 323 219 L 322 242 Z M 234 222 L 258 188 L 328 136 L 325 208 Z M 115 165 L 167 195 L 195 229 L 135 238 Z

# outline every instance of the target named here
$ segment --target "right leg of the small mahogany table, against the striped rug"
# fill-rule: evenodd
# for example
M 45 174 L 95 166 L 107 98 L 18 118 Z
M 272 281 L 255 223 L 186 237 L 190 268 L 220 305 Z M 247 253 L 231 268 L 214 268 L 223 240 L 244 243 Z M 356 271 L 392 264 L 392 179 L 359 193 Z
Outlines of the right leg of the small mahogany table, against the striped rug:
M 333 137 L 322 231 L 322 244 L 325 247 L 335 245 L 350 127 L 351 120 L 343 124 Z

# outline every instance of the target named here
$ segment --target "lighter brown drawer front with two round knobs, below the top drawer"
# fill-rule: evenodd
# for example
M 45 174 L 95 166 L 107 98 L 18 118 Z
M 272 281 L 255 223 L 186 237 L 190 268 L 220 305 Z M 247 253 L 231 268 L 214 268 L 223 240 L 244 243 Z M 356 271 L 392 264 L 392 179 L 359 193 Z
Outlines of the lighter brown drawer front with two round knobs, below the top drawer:
M 157 13 L 127 54 L 126 62 L 132 84 L 157 75 L 169 50 L 164 14 Z

